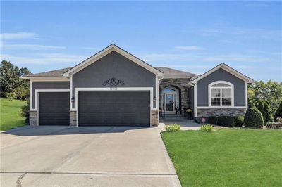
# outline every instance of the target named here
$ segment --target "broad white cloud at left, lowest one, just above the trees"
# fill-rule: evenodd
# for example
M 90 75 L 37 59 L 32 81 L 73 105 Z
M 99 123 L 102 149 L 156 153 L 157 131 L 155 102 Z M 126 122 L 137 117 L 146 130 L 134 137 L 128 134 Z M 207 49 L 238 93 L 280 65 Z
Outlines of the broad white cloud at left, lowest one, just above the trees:
M 58 64 L 58 63 L 80 63 L 85 60 L 85 56 L 63 53 L 39 53 L 30 56 L 14 56 L 10 54 L 1 54 L 1 60 L 8 60 L 16 65 L 22 64 Z

